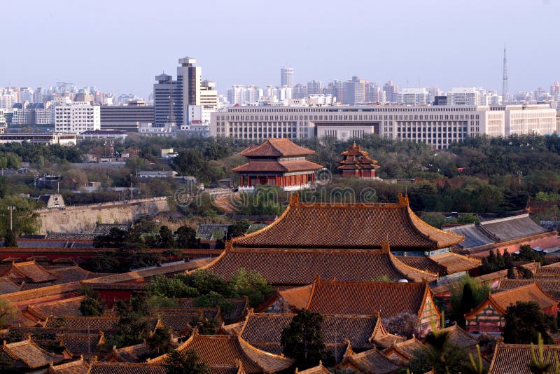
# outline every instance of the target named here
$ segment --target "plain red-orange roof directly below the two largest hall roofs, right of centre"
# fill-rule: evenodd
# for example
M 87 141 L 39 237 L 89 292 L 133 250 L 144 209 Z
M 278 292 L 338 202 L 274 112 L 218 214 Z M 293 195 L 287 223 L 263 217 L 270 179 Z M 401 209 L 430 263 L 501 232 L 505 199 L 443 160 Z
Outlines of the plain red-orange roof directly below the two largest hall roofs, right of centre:
M 306 309 L 321 314 L 419 314 L 431 297 L 426 283 L 314 282 Z

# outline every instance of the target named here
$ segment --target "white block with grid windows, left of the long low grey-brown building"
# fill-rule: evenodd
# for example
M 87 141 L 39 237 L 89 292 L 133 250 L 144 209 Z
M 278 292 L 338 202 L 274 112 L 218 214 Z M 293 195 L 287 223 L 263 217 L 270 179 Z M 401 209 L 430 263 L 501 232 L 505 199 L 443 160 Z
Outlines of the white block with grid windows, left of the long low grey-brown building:
M 101 130 L 101 109 L 89 102 L 71 102 L 55 106 L 55 132 L 81 134 Z

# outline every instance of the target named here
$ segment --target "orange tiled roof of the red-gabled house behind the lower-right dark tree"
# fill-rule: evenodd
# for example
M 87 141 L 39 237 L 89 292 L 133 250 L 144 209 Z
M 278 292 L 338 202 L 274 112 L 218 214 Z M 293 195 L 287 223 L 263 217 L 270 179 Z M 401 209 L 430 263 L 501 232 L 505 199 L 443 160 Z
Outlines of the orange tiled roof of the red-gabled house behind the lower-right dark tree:
M 554 300 L 552 296 L 547 295 L 542 291 L 538 284 L 531 283 L 526 286 L 517 287 L 517 289 L 510 289 L 498 293 L 490 293 L 489 296 L 479 306 L 471 312 L 465 314 L 465 318 L 474 318 L 484 307 L 490 303 L 498 312 L 505 314 L 507 307 L 515 305 L 517 301 L 534 301 L 538 303 L 541 309 L 547 309 L 558 305 L 558 301 Z

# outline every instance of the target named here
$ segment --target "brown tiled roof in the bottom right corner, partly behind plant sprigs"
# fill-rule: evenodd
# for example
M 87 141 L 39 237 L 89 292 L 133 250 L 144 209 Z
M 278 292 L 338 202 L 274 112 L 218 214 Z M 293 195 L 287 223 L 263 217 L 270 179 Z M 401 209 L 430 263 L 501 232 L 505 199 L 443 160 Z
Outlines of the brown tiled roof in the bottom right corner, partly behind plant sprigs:
M 538 356 L 538 347 L 533 348 Z M 545 359 L 552 361 L 550 373 L 556 370 L 554 355 L 560 355 L 560 345 L 544 345 L 542 352 Z M 531 363 L 531 345 L 498 343 L 488 374 L 531 374 L 528 364 Z

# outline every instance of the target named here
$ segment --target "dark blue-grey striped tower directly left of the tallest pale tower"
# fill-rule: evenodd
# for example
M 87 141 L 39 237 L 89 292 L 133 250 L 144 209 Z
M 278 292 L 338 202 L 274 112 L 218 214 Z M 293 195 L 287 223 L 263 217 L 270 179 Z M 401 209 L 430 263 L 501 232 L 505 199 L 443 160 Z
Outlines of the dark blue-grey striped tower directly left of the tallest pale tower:
M 153 125 L 165 127 L 168 124 L 183 123 L 183 91 L 172 76 L 160 74 L 153 85 Z

